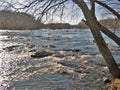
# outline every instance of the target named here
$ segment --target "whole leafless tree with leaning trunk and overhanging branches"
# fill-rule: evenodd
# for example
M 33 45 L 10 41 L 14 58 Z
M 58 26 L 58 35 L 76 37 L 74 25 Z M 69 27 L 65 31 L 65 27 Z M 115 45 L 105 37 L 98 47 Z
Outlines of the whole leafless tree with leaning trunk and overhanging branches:
M 114 0 L 107 0 L 110 3 L 115 3 Z M 23 3 L 13 2 L 11 0 L 10 2 L 6 1 L 7 5 L 11 6 L 15 10 L 26 10 L 33 11 L 34 14 L 37 14 L 41 17 L 47 16 L 47 18 L 50 15 L 55 14 L 55 12 L 60 13 L 60 17 L 64 15 L 65 9 L 70 9 L 67 6 L 70 4 L 73 4 L 75 6 L 75 10 L 82 10 L 82 13 L 85 17 L 83 21 L 89 26 L 93 37 L 96 41 L 96 44 L 101 52 L 101 54 L 104 57 L 104 60 L 106 61 L 107 67 L 113 76 L 114 79 L 119 78 L 120 79 L 120 69 L 115 62 L 109 48 L 107 47 L 104 38 L 101 35 L 102 31 L 106 35 L 108 35 L 111 39 L 113 39 L 118 45 L 120 45 L 120 38 L 117 37 L 114 33 L 109 31 L 106 27 L 102 26 L 98 20 L 97 16 L 95 15 L 95 4 L 99 4 L 100 6 L 103 6 L 104 8 L 108 9 L 112 14 L 117 16 L 117 18 L 120 18 L 119 12 L 115 10 L 115 8 L 110 7 L 109 3 L 107 3 L 106 0 L 25 0 Z M 90 2 L 90 3 L 88 3 Z M 119 3 L 119 1 L 118 1 Z M 17 5 L 16 5 L 17 4 Z M 19 7 L 18 7 L 19 6 Z M 74 12 L 72 12 L 74 13 Z M 76 14 L 76 13 L 75 13 Z

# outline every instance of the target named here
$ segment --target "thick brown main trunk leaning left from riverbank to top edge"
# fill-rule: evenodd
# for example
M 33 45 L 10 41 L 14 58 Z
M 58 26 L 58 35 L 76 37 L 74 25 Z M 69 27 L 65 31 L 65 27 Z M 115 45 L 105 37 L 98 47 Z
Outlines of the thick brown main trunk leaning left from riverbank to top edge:
M 120 69 L 115 62 L 110 50 L 108 49 L 100 31 L 99 25 L 96 22 L 96 17 L 91 13 L 89 8 L 87 7 L 86 3 L 83 0 L 73 0 L 83 11 L 83 14 L 87 20 L 87 23 L 90 27 L 90 30 L 93 34 L 93 37 L 97 43 L 97 46 L 103 55 L 106 65 L 109 68 L 110 73 L 114 78 L 120 78 Z

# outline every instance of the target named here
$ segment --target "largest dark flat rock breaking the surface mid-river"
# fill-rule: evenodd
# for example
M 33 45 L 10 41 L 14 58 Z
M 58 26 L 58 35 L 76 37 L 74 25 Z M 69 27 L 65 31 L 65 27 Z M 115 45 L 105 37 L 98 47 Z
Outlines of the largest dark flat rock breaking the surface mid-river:
M 42 58 L 42 57 L 51 56 L 51 55 L 53 55 L 53 53 L 51 53 L 51 52 L 39 51 L 39 52 L 36 52 L 33 55 L 31 55 L 31 57 L 33 57 L 33 58 Z

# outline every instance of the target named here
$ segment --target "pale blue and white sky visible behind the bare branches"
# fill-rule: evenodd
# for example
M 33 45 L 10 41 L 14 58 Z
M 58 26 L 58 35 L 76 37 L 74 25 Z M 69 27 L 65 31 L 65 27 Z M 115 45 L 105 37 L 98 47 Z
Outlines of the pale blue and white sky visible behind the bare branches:
M 17 0 L 0 0 L 0 2 L 2 1 L 9 1 L 11 3 L 11 1 L 14 3 Z M 20 3 L 25 4 L 24 0 L 18 0 Z M 32 0 L 28 0 L 28 1 L 32 1 Z M 87 1 L 87 0 L 86 0 Z M 114 0 L 117 1 L 117 0 Z M 36 4 L 37 5 L 37 4 Z M 73 2 L 70 0 L 69 2 L 65 3 L 65 9 L 64 9 L 64 13 L 62 16 L 62 19 L 60 18 L 60 9 L 58 10 L 57 13 L 55 13 L 53 16 L 48 16 L 49 19 L 47 19 L 47 21 L 45 20 L 45 17 L 43 18 L 43 22 L 44 23 L 51 23 L 51 22 L 55 22 L 55 23 L 70 23 L 70 24 L 78 24 L 81 19 L 84 18 L 81 10 L 79 7 L 77 7 L 77 5 L 73 4 Z M 16 7 L 21 7 L 20 5 L 16 5 Z M 104 10 L 102 7 L 98 8 L 98 5 L 96 5 L 96 15 L 98 19 L 103 19 L 103 18 L 107 18 L 107 17 L 113 17 L 110 14 L 105 15 L 105 13 L 103 12 L 107 12 L 107 10 Z M 21 11 L 25 11 L 25 10 L 21 10 Z M 33 10 L 34 11 L 34 10 Z M 39 12 L 40 10 L 38 10 L 37 14 L 35 15 L 36 17 L 39 16 Z M 29 14 L 32 14 L 32 10 L 28 11 Z M 51 12 L 50 12 L 51 13 Z

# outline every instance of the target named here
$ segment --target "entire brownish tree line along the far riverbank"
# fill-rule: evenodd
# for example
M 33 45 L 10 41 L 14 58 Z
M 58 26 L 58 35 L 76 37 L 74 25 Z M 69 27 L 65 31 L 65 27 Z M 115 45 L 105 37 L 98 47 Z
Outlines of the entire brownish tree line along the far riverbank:
M 107 18 L 99 20 L 99 22 L 111 29 L 120 29 L 120 20 Z M 35 19 L 33 15 L 23 12 L 12 12 L 8 10 L 0 11 L 0 29 L 70 29 L 70 28 L 89 28 L 82 21 L 76 25 L 70 25 L 69 23 L 48 23 L 43 24 L 41 21 Z

